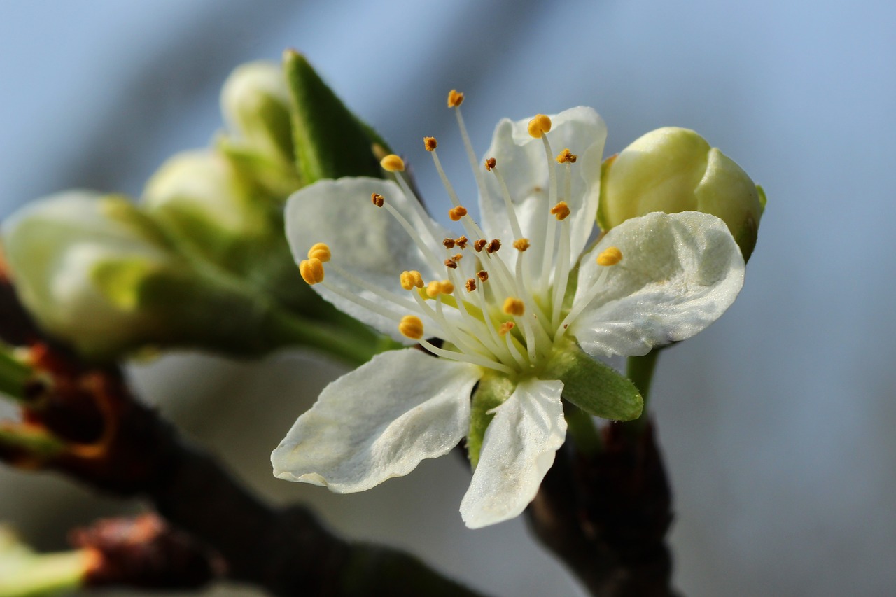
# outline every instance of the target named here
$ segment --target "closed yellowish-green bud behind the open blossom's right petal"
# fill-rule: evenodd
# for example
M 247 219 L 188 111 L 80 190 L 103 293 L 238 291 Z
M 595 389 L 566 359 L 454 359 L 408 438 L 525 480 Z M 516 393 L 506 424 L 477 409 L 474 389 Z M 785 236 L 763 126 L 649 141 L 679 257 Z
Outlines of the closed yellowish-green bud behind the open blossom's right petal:
M 667 126 L 604 162 L 598 223 L 606 231 L 648 212 L 711 213 L 748 259 L 764 207 L 762 188 L 733 160 L 694 131 Z

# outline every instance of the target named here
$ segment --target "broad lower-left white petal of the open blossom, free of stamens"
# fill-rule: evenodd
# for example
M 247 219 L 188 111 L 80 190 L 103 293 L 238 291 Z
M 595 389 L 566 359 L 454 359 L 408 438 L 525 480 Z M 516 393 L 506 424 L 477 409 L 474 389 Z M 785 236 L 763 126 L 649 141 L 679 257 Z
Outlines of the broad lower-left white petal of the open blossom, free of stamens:
M 466 435 L 481 376 L 420 350 L 383 352 L 323 389 L 271 454 L 274 475 L 337 493 L 406 475 Z

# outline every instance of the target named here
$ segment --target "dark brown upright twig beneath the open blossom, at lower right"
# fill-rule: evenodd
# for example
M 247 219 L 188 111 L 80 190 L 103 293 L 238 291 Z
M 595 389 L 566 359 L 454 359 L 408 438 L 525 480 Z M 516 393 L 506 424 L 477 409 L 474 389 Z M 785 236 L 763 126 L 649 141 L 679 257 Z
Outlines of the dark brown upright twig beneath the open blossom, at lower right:
M 611 424 L 601 453 L 571 442 L 526 511 L 538 539 L 599 597 L 669 597 L 671 493 L 652 425 Z

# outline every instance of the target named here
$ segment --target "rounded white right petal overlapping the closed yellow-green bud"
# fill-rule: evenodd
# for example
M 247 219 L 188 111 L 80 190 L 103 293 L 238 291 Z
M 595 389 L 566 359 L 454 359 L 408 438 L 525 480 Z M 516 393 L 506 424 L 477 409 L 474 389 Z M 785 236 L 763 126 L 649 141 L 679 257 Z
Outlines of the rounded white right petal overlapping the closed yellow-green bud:
M 597 255 L 618 247 L 622 261 L 598 282 Z M 582 257 L 574 305 L 600 290 L 569 332 L 591 356 L 646 354 L 690 338 L 731 306 L 744 284 L 744 258 L 725 222 L 701 212 L 653 212 L 607 232 Z

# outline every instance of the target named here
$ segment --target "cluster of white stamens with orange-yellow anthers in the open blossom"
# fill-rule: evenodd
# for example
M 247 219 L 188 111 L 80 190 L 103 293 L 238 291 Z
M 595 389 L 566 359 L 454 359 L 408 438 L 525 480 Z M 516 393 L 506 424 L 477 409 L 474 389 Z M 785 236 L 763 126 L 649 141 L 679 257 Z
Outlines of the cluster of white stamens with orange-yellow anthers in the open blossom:
M 444 272 L 444 278 L 425 281 L 421 273 L 405 271 L 400 276 L 401 289 L 405 293 L 401 295 L 376 289 L 341 268 L 337 271 L 358 287 L 400 305 L 407 315 L 396 321 L 398 330 L 435 355 L 492 368 L 508 375 L 538 374 L 574 317 L 597 294 L 592 289 L 590 296 L 584 297 L 584 305 L 579 301 L 574 306 L 569 304 L 566 297 L 571 262 L 569 218 L 593 219 L 594 214 L 573 213 L 566 202 L 570 198 L 572 165 L 577 156 L 569 149 L 555 156 L 547 138 L 552 126 L 551 119 L 539 114 L 532 118 L 528 130 L 533 138 L 541 140 L 544 147 L 549 177 L 548 205 L 551 207 L 538 215 L 530 224 L 532 229 L 524 233 L 500 164 L 495 158 L 488 158 L 485 173 L 478 168 L 476 153 L 461 116 L 462 101 L 463 94 L 452 90 L 448 105 L 457 117 L 479 193 L 487 197 L 485 173 L 494 176 L 501 189 L 501 200 L 514 238 L 502 240 L 487 237 L 461 203 L 445 175 L 436 151 L 438 143 L 435 138 L 426 137 L 425 149 L 432 156 L 435 169 L 452 202 L 448 216 L 452 221 L 461 223 L 465 234 L 458 238 L 432 238 L 427 229 L 415 228 L 405 215 L 396 210 L 390 204 L 389 197 L 374 193 L 371 201 L 376 207 L 392 214 L 425 256 L 432 270 Z M 397 155 L 388 155 L 381 161 L 381 166 L 395 175 L 401 190 L 410 199 L 411 209 L 418 210 L 416 215 L 425 221 L 428 216 L 403 174 L 404 160 Z M 561 171 L 558 173 L 557 170 Z M 380 315 L 396 318 L 393 310 L 375 301 L 350 295 L 333 284 L 328 285 L 324 280 L 323 263 L 329 257 L 329 247 L 321 243 L 312 247 L 308 259 L 299 264 L 302 277 L 309 284 L 322 283 L 340 296 L 353 299 Z M 598 263 L 608 268 L 618 263 L 621 257 L 614 247 L 613 251 L 608 249 L 602 253 Z M 535 264 L 543 264 L 540 271 L 527 261 L 531 259 L 536 260 Z M 595 284 L 595 288 L 599 286 L 599 283 Z M 444 343 L 436 346 L 426 340 L 427 337 L 440 338 Z

